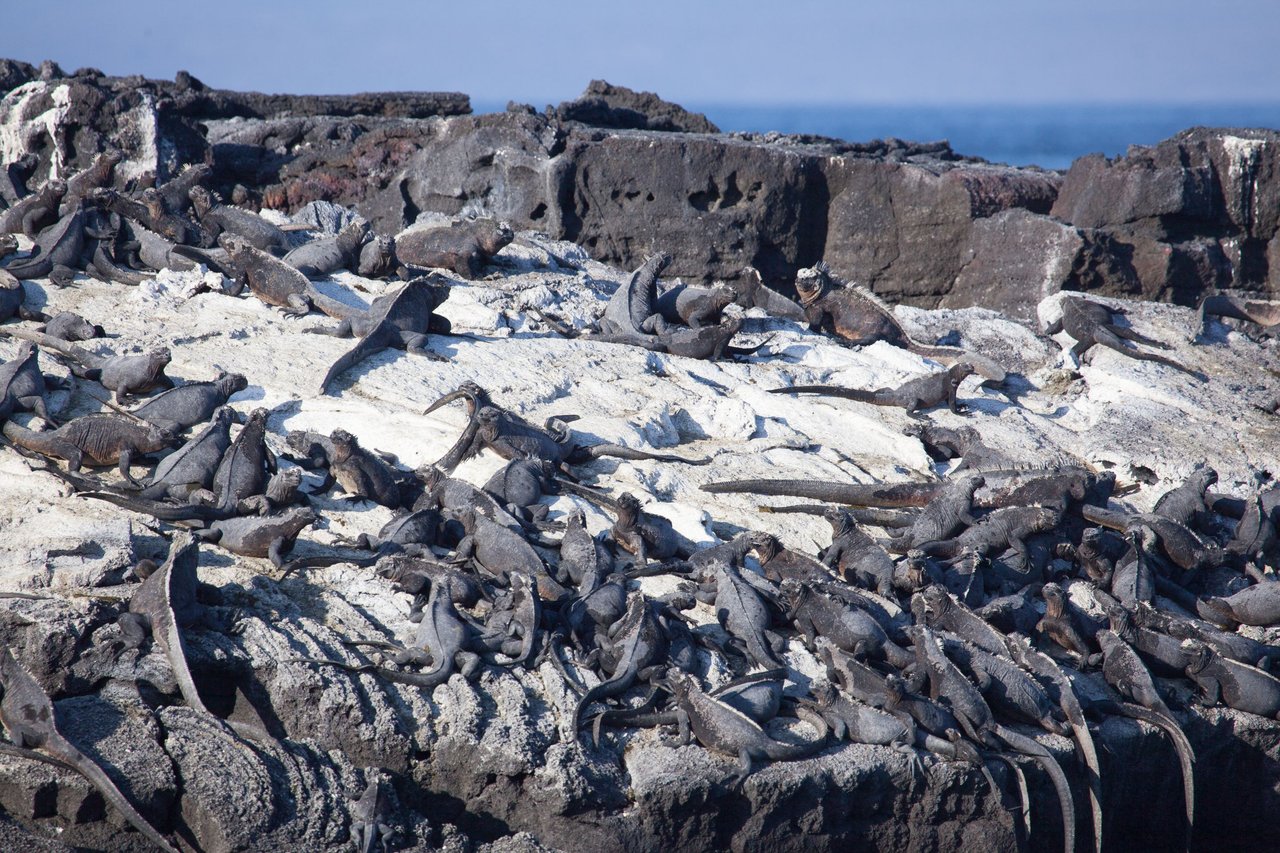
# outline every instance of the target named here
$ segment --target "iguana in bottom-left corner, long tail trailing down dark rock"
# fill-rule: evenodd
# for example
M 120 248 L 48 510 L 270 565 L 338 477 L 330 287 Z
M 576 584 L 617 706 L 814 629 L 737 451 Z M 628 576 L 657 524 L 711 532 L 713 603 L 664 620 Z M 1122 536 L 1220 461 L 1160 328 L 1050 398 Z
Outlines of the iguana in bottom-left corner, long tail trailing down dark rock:
M 58 766 L 78 772 L 147 840 L 161 850 L 178 853 L 137 812 L 111 777 L 61 735 L 52 699 L 35 676 L 14 658 L 8 646 L 0 649 L 0 689 L 4 692 L 4 698 L 0 699 L 0 724 L 4 724 L 9 740 L 17 748 L 31 751 L 36 756 L 47 756 Z

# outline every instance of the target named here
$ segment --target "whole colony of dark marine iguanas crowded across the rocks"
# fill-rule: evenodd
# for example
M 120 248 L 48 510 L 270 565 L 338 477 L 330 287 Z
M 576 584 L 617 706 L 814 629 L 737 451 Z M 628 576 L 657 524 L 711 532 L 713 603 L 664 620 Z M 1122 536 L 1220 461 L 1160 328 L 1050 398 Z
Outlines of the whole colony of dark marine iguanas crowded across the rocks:
M 270 305 L 291 314 L 319 309 L 339 320 L 335 334 L 361 338 L 328 371 L 323 389 L 378 348 L 430 355 L 428 336 L 449 333 L 434 314 L 448 296 L 448 279 L 426 268 L 475 277 L 512 238 L 493 223 L 472 223 L 452 237 L 410 232 L 396 238 L 397 257 L 393 241 L 374 238 L 356 223 L 294 246 L 289 233 L 205 190 L 205 168 L 159 188 L 123 192 L 110 188 L 116 159 L 104 155 L 92 169 L 49 182 L 0 214 L 0 229 L 36 241 L 35 252 L 6 264 L 9 273 L 67 286 L 78 270 L 137 284 L 148 268 L 220 269 Z M 700 359 L 756 352 L 730 346 L 741 316 L 726 309 L 744 306 L 745 291 L 659 288 L 669 260 L 655 255 L 636 270 L 609 301 L 599 329 L 584 339 Z M 367 310 L 353 309 L 311 280 L 343 268 L 398 272 L 406 282 Z M 138 567 L 145 578 L 120 617 L 122 635 L 127 646 L 138 646 L 150 633 L 173 666 L 182 699 L 246 743 L 268 738 L 265 727 L 218 720 L 186 663 L 183 631 L 202 610 L 201 543 L 269 558 L 280 576 L 340 562 L 370 566 L 415 597 L 417 626 L 407 647 L 360 642 L 343 660 L 300 658 L 306 663 L 434 688 L 454 674 L 475 678 L 485 666 L 532 667 L 549 660 L 577 695 L 566 708 L 575 731 L 590 729 L 599 744 L 605 727 L 672 726 L 680 742 L 696 740 L 735 758 L 731 781 L 759 761 L 805 758 L 846 738 L 891 747 L 925 772 L 934 761 L 969 765 L 1000 797 L 1006 792 L 988 765 L 1001 762 L 1021 780 L 1012 794 L 1021 800 L 1024 830 L 1032 831 L 1019 766 L 1025 757 L 1053 784 L 1066 849 L 1075 848 L 1076 836 L 1069 777 L 1084 780 L 1100 849 L 1103 838 L 1091 724 L 1121 715 L 1169 735 L 1190 831 L 1194 754 L 1181 727 L 1187 712 L 1175 710 L 1161 681 L 1185 679 L 1204 704 L 1280 715 L 1280 680 L 1270 674 L 1280 648 L 1235 630 L 1280 624 L 1280 584 L 1268 573 L 1280 565 L 1277 487 L 1248 500 L 1217 496 L 1211 491 L 1216 475 L 1204 467 L 1152 512 L 1124 512 L 1108 506 L 1111 475 L 1071 465 L 1006 466 L 977 430 L 929 425 L 916 435 L 931 452 L 964 459 L 951 479 L 704 487 L 826 502 L 794 507 L 822 512 L 831 523 L 832 540 L 822 553 L 791 551 L 764 530 L 696 547 L 636 497 L 584 484 L 580 466 L 607 456 L 678 465 L 708 460 L 584 443 L 570 428 L 571 416 L 532 424 L 466 384 L 426 409 L 462 401 L 467 410 L 460 438 L 434 465 L 410 470 L 340 429 L 289 433 L 282 453 L 289 464 L 282 465 L 268 446 L 270 412 L 257 409 L 241 418 L 228 405 L 248 386 L 244 375 L 175 386 L 165 375 L 169 350 L 95 352 L 73 341 L 93 341 L 100 328 L 24 309 L 20 287 L 3 292 L 10 297 L 0 304 L 9 306 L 8 318 L 46 323 L 38 332 L 0 327 L 0 336 L 23 341 L 18 357 L 0 365 L 5 443 L 83 497 L 174 529 L 165 564 Z M 794 311 L 763 286 L 746 302 L 783 305 L 782 315 L 803 316 L 813 329 L 850 343 L 884 339 L 950 366 L 891 389 L 773 391 L 919 415 L 940 405 L 963 411 L 957 392 L 974 373 L 1004 379 L 998 365 L 977 353 L 913 341 L 882 305 L 842 287 L 822 265 L 800 277 L 797 292 L 801 305 L 791 305 Z M 1204 310 L 1233 315 L 1233 305 Z M 1101 343 L 1185 370 L 1125 346 L 1160 345 L 1117 325 L 1101 304 L 1068 297 L 1060 325 L 1078 341 L 1076 355 Z M 83 383 L 111 392 L 114 403 L 102 400 L 110 411 L 59 424 L 37 347 L 68 360 Z M 86 393 L 91 388 L 79 384 Z M 134 409 L 122 407 L 147 394 Z M 14 416 L 23 412 L 46 429 L 19 425 Z M 463 460 L 485 451 L 507 460 L 488 483 L 453 476 Z M 160 459 L 145 479 L 136 478 L 133 467 L 148 456 Z M 67 470 L 51 460 L 64 461 Z M 87 475 L 83 466 L 116 466 L 122 480 Z M 300 488 L 303 469 L 323 473 L 320 487 Z M 294 539 L 317 520 L 308 494 L 334 485 L 349 498 L 394 510 L 394 517 L 376 534 L 287 561 Z M 595 505 L 616 519 L 613 526 L 591 535 L 581 512 L 549 519 L 545 498 L 559 494 Z M 682 583 L 663 597 L 646 596 L 637 579 L 657 574 Z M 699 603 L 714 612 L 717 629 L 694 617 Z M 788 656 L 800 646 L 824 665 L 826 679 L 794 678 Z M 714 686 L 713 672 L 722 681 Z M 1085 683 L 1089 689 L 1078 689 Z M 8 648 L 0 654 L 0 721 L 13 749 L 83 774 L 157 847 L 173 849 L 102 768 L 59 734 L 51 698 Z M 792 734 L 791 721 L 812 733 Z M 1079 762 L 1046 749 L 1028 734 L 1037 727 L 1070 738 Z M 379 841 L 387 848 L 385 784 L 371 776 L 357 804 L 362 822 L 352 833 L 364 849 Z

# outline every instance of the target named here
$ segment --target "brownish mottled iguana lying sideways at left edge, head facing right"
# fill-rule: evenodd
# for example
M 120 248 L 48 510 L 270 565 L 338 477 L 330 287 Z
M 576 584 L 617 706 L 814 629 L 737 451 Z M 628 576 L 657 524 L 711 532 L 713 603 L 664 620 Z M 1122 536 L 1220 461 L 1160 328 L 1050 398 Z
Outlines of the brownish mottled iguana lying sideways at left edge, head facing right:
M 119 465 L 120 475 L 133 485 L 140 485 L 129 470 L 136 459 L 159 453 L 177 442 L 166 429 L 118 415 L 83 415 L 44 433 L 9 421 L 4 435 L 18 447 L 65 460 L 70 471 L 83 465 Z

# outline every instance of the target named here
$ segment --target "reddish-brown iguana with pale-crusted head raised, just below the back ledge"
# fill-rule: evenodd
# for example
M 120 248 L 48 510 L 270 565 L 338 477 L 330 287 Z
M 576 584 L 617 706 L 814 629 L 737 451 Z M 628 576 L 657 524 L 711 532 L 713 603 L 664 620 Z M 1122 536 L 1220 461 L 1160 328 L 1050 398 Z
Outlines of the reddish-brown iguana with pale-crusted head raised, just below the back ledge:
M 804 307 L 805 320 L 814 332 L 824 332 L 865 346 L 884 341 L 942 364 L 966 361 L 984 378 L 1004 382 L 1005 370 L 986 356 L 959 347 L 928 346 L 913 341 L 892 310 L 864 287 L 849 286 L 836 279 L 822 261 L 796 273 L 796 293 Z

